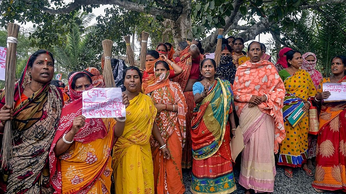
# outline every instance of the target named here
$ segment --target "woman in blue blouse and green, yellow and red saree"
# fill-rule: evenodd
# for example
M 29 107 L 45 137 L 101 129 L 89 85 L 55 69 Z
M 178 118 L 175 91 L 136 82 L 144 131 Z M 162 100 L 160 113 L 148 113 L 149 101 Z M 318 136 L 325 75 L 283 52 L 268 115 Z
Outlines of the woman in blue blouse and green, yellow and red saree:
M 193 84 L 191 192 L 231 193 L 237 189 L 233 176 L 230 125 L 233 117 L 233 92 L 227 80 L 215 78 L 216 63 L 204 59 L 201 81 Z

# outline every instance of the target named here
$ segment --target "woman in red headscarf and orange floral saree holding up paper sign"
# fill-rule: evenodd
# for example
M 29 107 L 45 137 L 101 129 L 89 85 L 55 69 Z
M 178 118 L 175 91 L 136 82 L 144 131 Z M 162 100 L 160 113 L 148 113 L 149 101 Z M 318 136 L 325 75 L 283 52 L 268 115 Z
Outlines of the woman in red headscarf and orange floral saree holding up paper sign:
M 75 72 L 69 79 L 72 99 L 62 109 L 58 130 L 49 153 L 51 184 L 57 193 L 110 193 L 111 148 L 124 124 L 113 118 L 82 116 L 82 93 L 93 88 L 92 78 Z M 129 101 L 122 99 L 125 107 Z

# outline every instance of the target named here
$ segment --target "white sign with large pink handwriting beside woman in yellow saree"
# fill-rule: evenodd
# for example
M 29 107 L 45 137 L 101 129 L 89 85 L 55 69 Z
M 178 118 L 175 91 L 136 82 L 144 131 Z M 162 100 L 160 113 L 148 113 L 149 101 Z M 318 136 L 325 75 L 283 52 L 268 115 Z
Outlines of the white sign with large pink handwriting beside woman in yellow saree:
M 82 115 L 86 118 L 125 117 L 121 88 L 93 88 L 83 91 Z

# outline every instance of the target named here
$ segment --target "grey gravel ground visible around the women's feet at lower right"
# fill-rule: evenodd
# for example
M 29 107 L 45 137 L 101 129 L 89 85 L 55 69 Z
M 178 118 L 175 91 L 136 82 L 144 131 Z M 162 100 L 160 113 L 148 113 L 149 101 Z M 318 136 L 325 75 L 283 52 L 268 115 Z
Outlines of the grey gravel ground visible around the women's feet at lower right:
M 239 164 L 239 163 L 238 163 Z M 243 194 L 244 188 L 238 184 L 239 177 L 239 165 L 234 167 L 234 176 L 236 177 L 237 190 L 233 192 L 234 194 Z M 314 171 L 315 172 L 315 171 Z M 188 181 L 188 171 L 183 170 L 183 180 L 185 183 L 186 192 L 185 194 L 190 194 L 191 182 Z M 301 168 L 293 169 L 293 178 L 288 178 L 284 175 L 284 168 L 281 166 L 276 166 L 276 176 L 275 176 L 275 187 L 273 194 L 317 194 L 317 192 L 312 188 L 311 183 L 314 177 L 308 177 L 305 175 Z M 232 193 L 232 194 L 233 194 Z M 325 192 L 324 194 L 341 194 L 342 192 Z

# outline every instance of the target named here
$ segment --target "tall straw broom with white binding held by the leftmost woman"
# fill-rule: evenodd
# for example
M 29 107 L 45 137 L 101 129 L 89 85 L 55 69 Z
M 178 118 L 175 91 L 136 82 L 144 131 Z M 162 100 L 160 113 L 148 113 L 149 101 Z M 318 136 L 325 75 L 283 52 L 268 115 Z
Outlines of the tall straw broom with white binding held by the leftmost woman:
M 8 23 L 7 25 L 7 54 L 6 54 L 6 67 L 5 67 L 5 101 L 10 107 L 13 107 L 13 96 L 15 95 L 15 76 L 16 76 L 16 51 L 17 51 L 17 38 L 19 32 L 19 25 Z M 10 157 L 13 157 L 13 135 L 12 135 L 11 121 L 5 123 L 5 128 L 2 138 L 1 149 L 1 169 L 7 166 Z

